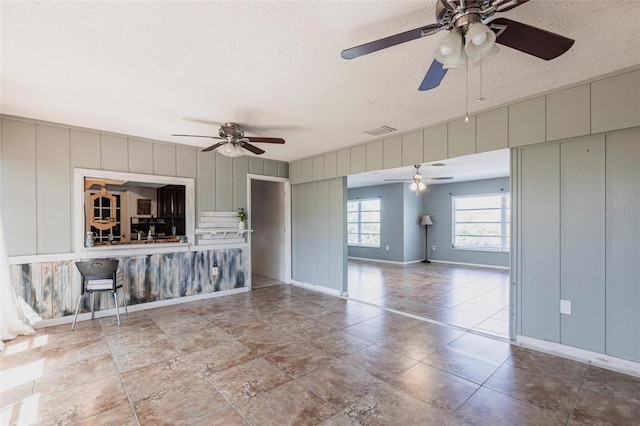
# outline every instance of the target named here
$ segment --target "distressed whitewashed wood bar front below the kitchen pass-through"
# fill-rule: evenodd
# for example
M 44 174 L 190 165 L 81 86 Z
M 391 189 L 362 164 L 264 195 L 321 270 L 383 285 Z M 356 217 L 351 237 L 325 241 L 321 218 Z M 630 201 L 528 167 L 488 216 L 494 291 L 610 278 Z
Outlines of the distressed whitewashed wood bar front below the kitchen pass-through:
M 180 298 L 192 300 L 248 290 L 249 264 L 248 245 L 170 253 L 145 253 L 117 255 L 120 264 L 118 273 L 123 280 L 124 297 L 132 310 L 180 303 Z M 108 253 L 95 253 L 96 258 L 105 258 Z M 71 320 L 81 291 L 81 276 L 75 266 L 76 260 L 32 261 L 11 265 L 12 282 L 16 293 L 33 310 L 31 316 L 46 323 Z M 218 274 L 212 275 L 212 267 Z M 219 294 L 216 294 L 219 293 Z M 190 297 L 192 296 L 192 297 Z M 109 294 L 96 294 L 96 311 L 113 309 L 113 298 Z M 156 303 L 153 303 L 156 302 Z M 166 303 L 162 303 L 166 302 Z M 140 305 L 136 309 L 136 305 Z M 81 312 L 91 310 L 89 298 L 83 298 Z M 68 317 L 68 318 L 65 318 Z M 36 324 L 38 326 L 38 324 Z

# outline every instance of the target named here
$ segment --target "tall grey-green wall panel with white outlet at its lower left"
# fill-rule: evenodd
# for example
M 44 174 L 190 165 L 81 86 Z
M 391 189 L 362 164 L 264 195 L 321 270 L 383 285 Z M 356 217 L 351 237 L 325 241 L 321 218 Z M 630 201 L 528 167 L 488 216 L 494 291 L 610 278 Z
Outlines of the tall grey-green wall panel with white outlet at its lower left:
M 603 353 L 605 343 L 604 135 L 560 144 L 560 343 Z

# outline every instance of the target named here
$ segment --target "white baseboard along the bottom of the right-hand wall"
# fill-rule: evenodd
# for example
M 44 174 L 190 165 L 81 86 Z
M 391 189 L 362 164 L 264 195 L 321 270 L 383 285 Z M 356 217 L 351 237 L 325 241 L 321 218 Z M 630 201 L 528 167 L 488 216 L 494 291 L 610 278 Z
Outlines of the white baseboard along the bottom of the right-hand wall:
M 534 349 L 536 351 L 561 356 L 574 361 L 586 362 L 607 370 L 640 377 L 640 362 L 617 358 L 598 352 L 587 351 L 585 349 L 574 348 L 573 346 L 549 342 L 547 340 L 522 336 L 520 334 L 516 335 L 516 343 L 524 348 Z

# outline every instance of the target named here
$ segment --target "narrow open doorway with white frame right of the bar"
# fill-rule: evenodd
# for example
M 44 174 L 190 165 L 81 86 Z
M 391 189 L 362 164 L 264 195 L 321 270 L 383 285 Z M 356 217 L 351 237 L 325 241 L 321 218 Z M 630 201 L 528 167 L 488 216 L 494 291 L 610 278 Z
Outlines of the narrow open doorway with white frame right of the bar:
M 284 178 L 248 175 L 251 288 L 291 282 L 290 196 Z

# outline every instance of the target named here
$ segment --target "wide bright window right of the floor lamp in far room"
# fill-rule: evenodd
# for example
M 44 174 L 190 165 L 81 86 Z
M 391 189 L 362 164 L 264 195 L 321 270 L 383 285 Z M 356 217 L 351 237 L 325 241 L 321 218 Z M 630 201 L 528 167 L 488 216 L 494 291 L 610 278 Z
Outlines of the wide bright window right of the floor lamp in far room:
M 509 194 L 453 197 L 453 248 L 509 251 Z

